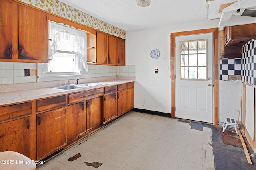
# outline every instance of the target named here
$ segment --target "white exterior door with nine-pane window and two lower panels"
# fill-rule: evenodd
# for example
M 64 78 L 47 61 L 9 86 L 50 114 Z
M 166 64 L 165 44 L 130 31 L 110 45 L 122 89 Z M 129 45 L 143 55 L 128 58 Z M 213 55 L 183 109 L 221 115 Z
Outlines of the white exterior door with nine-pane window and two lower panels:
M 213 35 L 176 36 L 175 116 L 213 123 Z

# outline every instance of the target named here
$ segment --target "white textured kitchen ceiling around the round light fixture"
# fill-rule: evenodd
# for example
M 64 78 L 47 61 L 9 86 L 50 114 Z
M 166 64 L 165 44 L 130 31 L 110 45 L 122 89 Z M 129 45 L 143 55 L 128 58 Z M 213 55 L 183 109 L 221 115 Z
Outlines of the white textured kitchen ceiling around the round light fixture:
M 125 31 L 152 29 L 220 18 L 220 4 L 235 0 L 151 0 L 150 6 L 140 7 L 136 0 L 60 0 L 82 12 Z M 209 10 L 210 14 L 209 14 Z M 217 14 L 216 14 L 217 13 Z M 219 14 L 219 15 L 218 15 Z

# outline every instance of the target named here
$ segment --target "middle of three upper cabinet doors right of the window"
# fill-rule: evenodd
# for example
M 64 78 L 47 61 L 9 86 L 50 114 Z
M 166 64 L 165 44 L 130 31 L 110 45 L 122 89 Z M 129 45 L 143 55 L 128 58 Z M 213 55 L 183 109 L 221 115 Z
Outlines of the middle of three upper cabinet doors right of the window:
M 108 64 L 117 64 L 117 38 L 108 36 Z

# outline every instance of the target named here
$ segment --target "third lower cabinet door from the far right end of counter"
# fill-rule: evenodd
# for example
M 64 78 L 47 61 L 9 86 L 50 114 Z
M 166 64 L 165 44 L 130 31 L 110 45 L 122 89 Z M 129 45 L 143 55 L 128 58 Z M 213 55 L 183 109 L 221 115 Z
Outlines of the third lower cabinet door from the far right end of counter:
M 116 93 L 106 94 L 104 98 L 104 123 L 106 123 L 117 117 Z

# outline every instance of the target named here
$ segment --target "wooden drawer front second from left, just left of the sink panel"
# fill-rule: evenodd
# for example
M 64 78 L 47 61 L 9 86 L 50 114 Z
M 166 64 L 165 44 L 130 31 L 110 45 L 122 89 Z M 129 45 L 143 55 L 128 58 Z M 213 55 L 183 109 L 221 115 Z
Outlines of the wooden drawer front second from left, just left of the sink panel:
M 66 106 L 66 96 L 58 96 L 43 100 L 37 100 L 37 111 L 44 111 L 56 107 Z

